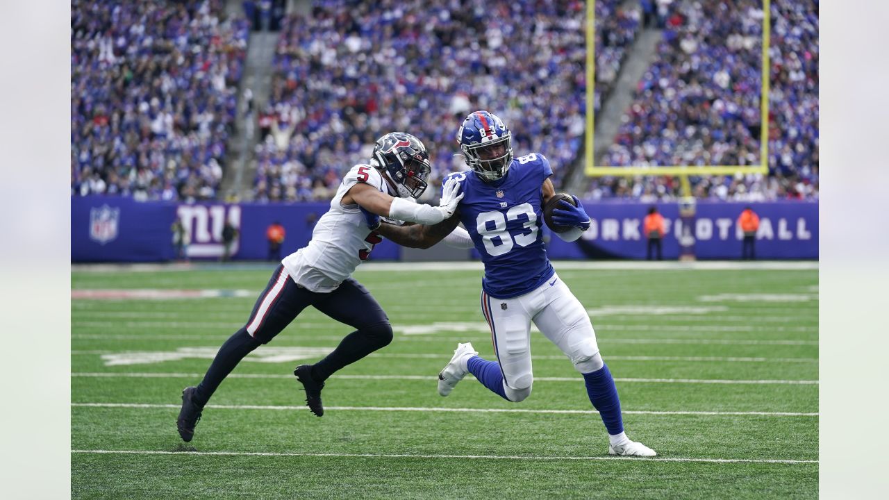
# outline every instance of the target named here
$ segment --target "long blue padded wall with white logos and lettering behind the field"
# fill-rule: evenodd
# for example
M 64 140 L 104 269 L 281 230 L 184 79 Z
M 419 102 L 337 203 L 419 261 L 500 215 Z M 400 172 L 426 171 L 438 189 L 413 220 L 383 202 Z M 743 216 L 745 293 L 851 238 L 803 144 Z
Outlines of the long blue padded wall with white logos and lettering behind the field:
M 651 204 L 584 201 L 593 220 L 581 240 L 568 243 L 544 230 L 551 259 L 645 258 L 642 221 Z M 218 259 L 226 220 L 239 230 L 232 246 L 233 260 L 263 260 L 268 256 L 265 232 L 278 221 L 287 231 L 286 255 L 305 246 L 316 220 L 329 203 L 300 204 L 179 204 L 137 202 L 132 198 L 71 198 L 72 262 L 166 262 L 175 259 L 172 223 L 177 215 L 189 234 L 190 259 Z M 655 204 L 667 222 L 664 259 L 679 254 L 682 230 L 675 203 Z M 741 234 L 737 218 L 745 206 L 760 217 L 758 259 L 817 259 L 818 203 L 781 201 L 757 204 L 699 202 L 694 219 L 694 252 L 698 259 L 738 259 Z M 478 258 L 475 250 L 471 252 Z M 386 240 L 375 246 L 374 260 L 398 260 L 401 248 Z

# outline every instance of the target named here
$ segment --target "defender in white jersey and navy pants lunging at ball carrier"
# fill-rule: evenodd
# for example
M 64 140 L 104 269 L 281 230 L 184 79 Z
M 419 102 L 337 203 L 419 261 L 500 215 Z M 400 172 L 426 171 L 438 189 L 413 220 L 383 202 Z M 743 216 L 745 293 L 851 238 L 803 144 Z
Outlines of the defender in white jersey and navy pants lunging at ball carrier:
M 459 181 L 449 181 L 439 206 L 414 199 L 426 190 L 430 172 L 428 152 L 410 133 L 387 133 L 373 149 L 369 165 L 355 165 L 343 177 L 330 210 L 318 220 L 308 245 L 284 257 L 250 319 L 222 344 L 204 380 L 182 391 L 177 428 L 182 440 L 194 437 L 195 425 L 207 401 L 225 377 L 248 353 L 268 343 L 300 311 L 314 306 L 332 319 L 355 328 L 336 350 L 315 365 L 296 367 L 294 375 L 306 391 L 306 403 L 324 415 L 321 389 L 340 368 L 362 359 L 392 341 L 386 313 L 352 272 L 382 238 L 368 229 L 362 210 L 396 221 L 436 224 L 453 215 L 461 196 Z

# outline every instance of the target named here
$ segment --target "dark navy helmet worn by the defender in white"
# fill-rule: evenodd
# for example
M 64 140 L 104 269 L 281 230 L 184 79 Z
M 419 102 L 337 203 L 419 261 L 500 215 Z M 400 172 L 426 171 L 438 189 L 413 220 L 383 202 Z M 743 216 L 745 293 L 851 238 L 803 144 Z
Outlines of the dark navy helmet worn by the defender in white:
M 373 146 L 371 166 L 386 173 L 400 198 L 420 198 L 432 171 L 429 153 L 423 143 L 404 132 L 390 132 Z

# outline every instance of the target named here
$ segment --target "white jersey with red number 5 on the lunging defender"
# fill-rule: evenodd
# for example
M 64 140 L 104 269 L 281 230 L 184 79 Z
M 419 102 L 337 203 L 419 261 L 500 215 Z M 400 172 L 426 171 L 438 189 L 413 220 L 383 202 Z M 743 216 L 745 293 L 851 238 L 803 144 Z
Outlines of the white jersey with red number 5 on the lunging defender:
M 355 165 L 340 182 L 330 210 L 322 215 L 308 245 L 281 261 L 300 286 L 312 292 L 332 292 L 367 260 L 382 238 L 372 233 L 357 205 L 342 205 L 342 197 L 358 182 L 392 194 L 380 172 L 371 165 Z

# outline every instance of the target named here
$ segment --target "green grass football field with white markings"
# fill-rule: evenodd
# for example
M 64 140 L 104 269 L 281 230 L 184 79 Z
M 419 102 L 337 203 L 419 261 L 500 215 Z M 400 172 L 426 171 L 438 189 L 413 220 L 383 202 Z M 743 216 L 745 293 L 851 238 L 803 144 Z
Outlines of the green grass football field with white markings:
M 395 340 L 328 381 L 324 417 L 302 406 L 292 369 L 350 329 L 306 310 L 222 383 L 188 445 L 175 425 L 181 390 L 243 326 L 273 266 L 74 270 L 72 496 L 818 495 L 814 266 L 556 263 L 589 310 L 628 435 L 654 448 L 653 459 L 608 456 L 582 377 L 540 333 L 524 402 L 471 375 L 441 398 L 436 374 L 457 342 L 493 356 L 481 271 L 364 267 L 356 278 L 387 310 Z M 226 292 L 79 298 L 125 289 Z

